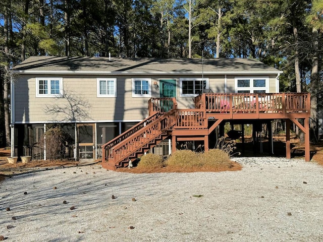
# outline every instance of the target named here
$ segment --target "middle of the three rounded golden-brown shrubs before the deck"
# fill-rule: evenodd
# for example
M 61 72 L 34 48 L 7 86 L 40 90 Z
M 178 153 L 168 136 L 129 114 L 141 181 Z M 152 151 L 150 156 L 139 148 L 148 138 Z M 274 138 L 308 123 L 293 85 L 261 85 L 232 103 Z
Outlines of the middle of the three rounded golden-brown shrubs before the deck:
M 191 150 L 177 150 L 167 160 L 167 166 L 177 168 L 200 167 L 198 153 Z

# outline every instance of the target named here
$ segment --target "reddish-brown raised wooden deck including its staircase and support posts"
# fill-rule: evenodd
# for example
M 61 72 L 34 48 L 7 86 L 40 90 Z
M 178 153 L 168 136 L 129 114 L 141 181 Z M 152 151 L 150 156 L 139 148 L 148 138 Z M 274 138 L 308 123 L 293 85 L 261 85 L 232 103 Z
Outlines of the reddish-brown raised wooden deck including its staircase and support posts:
M 173 152 L 179 141 L 204 141 L 204 149 L 208 149 L 209 135 L 226 120 L 243 124 L 285 119 L 287 158 L 291 156 L 293 122 L 305 134 L 305 160 L 310 160 L 309 93 L 203 93 L 193 100 L 195 108 L 178 109 L 175 98 L 151 98 L 148 118 L 102 146 L 102 166 L 126 166 L 130 158 L 139 157 L 170 136 Z

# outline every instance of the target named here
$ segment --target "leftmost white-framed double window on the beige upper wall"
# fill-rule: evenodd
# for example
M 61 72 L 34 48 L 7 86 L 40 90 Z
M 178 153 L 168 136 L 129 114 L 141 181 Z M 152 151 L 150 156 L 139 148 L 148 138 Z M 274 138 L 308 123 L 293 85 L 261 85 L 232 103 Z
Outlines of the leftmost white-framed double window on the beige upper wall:
M 36 78 L 36 97 L 63 97 L 63 78 Z

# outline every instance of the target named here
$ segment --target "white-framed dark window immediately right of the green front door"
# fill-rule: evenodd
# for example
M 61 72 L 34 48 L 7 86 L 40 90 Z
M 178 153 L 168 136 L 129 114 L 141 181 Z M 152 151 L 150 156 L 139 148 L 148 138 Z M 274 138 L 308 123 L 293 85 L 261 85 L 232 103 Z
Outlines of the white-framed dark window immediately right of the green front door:
M 180 97 L 195 97 L 208 89 L 208 78 L 180 78 Z

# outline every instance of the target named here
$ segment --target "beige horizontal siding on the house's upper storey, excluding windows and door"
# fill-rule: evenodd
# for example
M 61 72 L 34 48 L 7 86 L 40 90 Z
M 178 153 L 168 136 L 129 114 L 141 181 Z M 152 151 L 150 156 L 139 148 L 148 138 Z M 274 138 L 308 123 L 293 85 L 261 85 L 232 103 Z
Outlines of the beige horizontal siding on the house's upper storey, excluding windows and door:
M 135 121 L 148 116 L 148 100 L 150 98 L 132 97 L 132 78 L 140 78 L 140 76 L 57 76 L 63 78 L 64 90 L 64 97 L 58 98 L 36 97 L 36 78 L 48 76 L 30 76 L 21 75 L 15 83 L 15 122 L 93 123 Z M 188 76 L 154 76 L 151 78 L 152 97 L 159 97 L 159 89 L 154 87 L 154 81 L 159 86 L 160 79 L 175 79 L 178 108 L 193 108 L 193 97 L 180 97 L 180 77 Z M 198 75 L 189 77 L 201 78 Z M 97 78 L 117 78 L 117 97 L 97 97 Z M 143 78 L 147 78 L 147 76 Z M 209 89 L 214 93 L 225 92 L 225 75 L 204 75 L 204 78 L 209 79 Z M 234 78 L 233 75 L 227 76 L 228 93 L 234 92 Z M 275 75 L 270 76 L 270 92 L 276 90 L 275 78 Z

